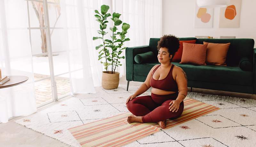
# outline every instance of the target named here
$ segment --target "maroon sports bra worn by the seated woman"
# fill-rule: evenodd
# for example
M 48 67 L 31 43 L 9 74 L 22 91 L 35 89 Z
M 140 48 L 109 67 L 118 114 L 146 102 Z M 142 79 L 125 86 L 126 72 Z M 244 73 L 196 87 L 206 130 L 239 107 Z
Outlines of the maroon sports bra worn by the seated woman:
M 172 77 L 172 70 L 174 67 L 173 64 L 172 64 L 172 67 L 171 67 L 169 73 L 167 74 L 167 76 L 164 79 L 162 79 L 162 80 L 153 79 L 153 74 L 155 73 L 156 69 L 160 66 L 161 66 L 161 64 L 153 70 L 151 79 L 149 81 L 150 86 L 153 88 L 162 89 L 162 90 L 166 90 L 166 91 L 178 92 L 178 85 Z

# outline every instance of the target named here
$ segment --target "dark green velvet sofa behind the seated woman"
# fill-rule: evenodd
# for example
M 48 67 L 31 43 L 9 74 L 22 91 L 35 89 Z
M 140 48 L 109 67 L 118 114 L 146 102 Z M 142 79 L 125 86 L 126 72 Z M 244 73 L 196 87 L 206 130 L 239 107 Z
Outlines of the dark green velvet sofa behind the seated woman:
M 179 40 L 195 40 L 196 38 L 179 38 Z M 125 51 L 126 59 L 126 80 L 127 91 L 130 81 L 144 82 L 150 69 L 160 64 L 157 60 L 157 42 L 160 38 L 150 38 L 149 45 L 128 47 Z M 238 93 L 256 94 L 256 48 L 253 39 L 196 39 L 196 44 L 203 42 L 229 43 L 227 53 L 227 66 L 214 65 L 192 65 L 172 62 L 181 67 L 187 74 L 188 87 L 203 88 L 212 90 L 222 90 Z M 152 51 L 154 58 L 146 63 L 138 64 L 134 57 L 137 54 Z M 244 62 L 243 60 L 246 60 Z M 244 64 L 245 63 L 245 64 Z M 245 65 L 247 70 L 242 70 L 240 66 Z

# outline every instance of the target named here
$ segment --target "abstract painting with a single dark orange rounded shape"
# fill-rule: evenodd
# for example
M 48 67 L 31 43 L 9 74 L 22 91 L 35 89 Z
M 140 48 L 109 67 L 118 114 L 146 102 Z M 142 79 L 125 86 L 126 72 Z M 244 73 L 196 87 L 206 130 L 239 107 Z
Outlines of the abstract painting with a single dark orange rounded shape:
M 230 0 L 227 7 L 220 8 L 219 28 L 239 28 L 242 0 Z

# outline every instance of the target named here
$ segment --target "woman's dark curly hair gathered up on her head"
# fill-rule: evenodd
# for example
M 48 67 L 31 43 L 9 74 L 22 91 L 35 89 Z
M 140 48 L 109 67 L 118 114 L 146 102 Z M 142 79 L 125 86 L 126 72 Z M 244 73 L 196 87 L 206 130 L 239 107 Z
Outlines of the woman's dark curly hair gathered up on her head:
M 168 52 L 172 55 L 172 58 L 180 48 L 180 40 L 176 36 L 171 34 L 162 36 L 157 43 L 157 51 L 159 51 L 161 47 L 166 47 L 168 49 Z M 170 62 L 172 61 L 172 58 Z

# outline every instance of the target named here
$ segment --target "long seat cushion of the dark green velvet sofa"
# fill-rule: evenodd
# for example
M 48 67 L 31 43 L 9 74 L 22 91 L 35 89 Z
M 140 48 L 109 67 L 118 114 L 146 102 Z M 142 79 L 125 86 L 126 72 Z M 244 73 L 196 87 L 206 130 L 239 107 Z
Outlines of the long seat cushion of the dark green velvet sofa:
M 192 65 L 172 62 L 181 67 L 187 74 L 189 81 L 202 81 L 212 83 L 224 83 L 234 85 L 252 85 L 252 72 L 246 72 L 239 67 L 215 66 L 215 65 Z M 146 64 L 133 64 L 133 76 L 147 76 L 150 69 L 159 62 Z M 143 70 L 141 70 L 143 69 Z

